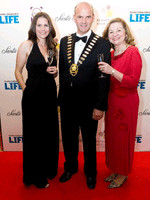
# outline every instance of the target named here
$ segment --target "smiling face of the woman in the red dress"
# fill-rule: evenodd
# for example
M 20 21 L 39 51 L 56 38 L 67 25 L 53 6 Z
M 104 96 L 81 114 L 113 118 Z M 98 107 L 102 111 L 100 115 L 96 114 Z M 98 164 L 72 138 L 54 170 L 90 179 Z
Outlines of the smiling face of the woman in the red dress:
M 126 33 L 121 22 L 114 22 L 108 30 L 108 39 L 114 46 L 126 44 Z

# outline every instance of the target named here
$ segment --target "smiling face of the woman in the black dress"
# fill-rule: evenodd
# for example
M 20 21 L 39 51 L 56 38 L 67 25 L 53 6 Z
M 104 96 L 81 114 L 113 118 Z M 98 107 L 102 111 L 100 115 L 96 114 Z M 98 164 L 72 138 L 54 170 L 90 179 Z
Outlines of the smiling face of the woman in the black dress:
M 39 17 L 36 23 L 36 36 L 38 39 L 45 39 L 50 32 L 48 20 L 44 17 Z

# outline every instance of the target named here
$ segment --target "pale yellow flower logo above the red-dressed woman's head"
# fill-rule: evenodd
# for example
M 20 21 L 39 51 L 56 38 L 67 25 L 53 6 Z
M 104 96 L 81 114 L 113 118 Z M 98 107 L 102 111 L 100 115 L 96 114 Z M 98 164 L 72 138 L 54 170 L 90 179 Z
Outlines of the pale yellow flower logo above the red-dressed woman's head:
M 109 22 L 110 18 L 112 18 L 112 16 L 113 16 L 113 11 L 111 9 L 111 6 L 108 5 L 104 8 L 101 8 L 100 14 L 102 14 L 102 16 L 104 15 L 105 17 L 100 17 L 100 18 L 95 19 L 95 23 L 97 25 L 106 26 L 106 24 Z

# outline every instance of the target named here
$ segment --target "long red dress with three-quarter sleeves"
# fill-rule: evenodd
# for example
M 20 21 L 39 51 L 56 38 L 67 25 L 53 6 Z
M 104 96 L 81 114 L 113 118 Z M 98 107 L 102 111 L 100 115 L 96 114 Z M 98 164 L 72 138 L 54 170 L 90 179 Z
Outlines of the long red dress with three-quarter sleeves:
M 112 67 L 123 73 L 122 82 L 111 76 L 105 121 L 106 165 L 113 172 L 131 172 L 138 118 L 142 61 L 137 47 L 129 46 L 118 56 L 111 54 Z

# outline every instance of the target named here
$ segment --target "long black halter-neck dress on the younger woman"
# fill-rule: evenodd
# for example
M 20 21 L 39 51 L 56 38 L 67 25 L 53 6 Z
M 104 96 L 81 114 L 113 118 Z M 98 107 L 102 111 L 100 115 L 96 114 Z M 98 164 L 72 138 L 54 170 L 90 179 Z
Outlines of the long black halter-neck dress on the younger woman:
M 23 182 L 40 188 L 48 183 L 47 178 L 56 176 L 59 153 L 57 90 L 47 67 L 34 43 L 27 60 L 28 79 L 22 98 Z

